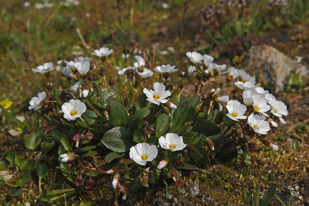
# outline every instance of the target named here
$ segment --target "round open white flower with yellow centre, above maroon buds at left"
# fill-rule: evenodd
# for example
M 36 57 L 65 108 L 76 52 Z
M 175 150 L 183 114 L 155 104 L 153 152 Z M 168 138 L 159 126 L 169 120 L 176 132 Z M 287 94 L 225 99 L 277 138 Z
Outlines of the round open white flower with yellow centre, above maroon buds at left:
M 82 116 L 86 111 L 86 105 L 78 99 L 70 99 L 69 102 L 63 103 L 61 109 L 64 113 L 63 117 L 71 121 Z

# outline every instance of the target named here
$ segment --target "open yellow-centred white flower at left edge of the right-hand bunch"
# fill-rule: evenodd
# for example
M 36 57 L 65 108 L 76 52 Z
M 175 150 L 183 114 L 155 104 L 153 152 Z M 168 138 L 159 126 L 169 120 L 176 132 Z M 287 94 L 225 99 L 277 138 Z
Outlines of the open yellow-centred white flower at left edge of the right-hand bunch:
M 238 119 L 244 120 L 247 118 L 247 116 L 243 115 L 247 111 L 247 107 L 237 100 L 228 101 L 226 109 L 229 112 L 226 116 L 230 117 L 232 120 L 238 121 Z

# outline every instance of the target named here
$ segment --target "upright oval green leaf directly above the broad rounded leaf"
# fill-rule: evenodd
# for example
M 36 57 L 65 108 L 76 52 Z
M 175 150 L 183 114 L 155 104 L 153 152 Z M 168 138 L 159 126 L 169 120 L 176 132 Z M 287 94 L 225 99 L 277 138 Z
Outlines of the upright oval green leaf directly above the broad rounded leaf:
M 113 127 L 128 127 L 129 115 L 125 108 L 115 100 L 109 99 L 108 101 L 110 103 L 109 121 Z

